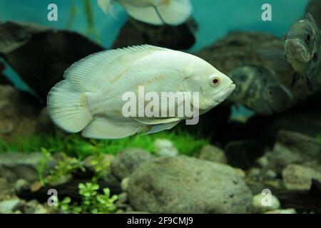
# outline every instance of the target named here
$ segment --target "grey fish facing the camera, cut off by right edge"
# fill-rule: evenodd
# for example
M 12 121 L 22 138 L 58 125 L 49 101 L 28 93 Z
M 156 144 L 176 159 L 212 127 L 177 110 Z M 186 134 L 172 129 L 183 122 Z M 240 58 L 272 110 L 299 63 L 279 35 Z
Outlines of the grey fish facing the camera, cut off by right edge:
M 321 70 L 321 33 L 311 14 L 295 23 L 285 35 L 285 57 L 297 74 L 292 86 L 305 76 L 309 90 L 314 90 Z

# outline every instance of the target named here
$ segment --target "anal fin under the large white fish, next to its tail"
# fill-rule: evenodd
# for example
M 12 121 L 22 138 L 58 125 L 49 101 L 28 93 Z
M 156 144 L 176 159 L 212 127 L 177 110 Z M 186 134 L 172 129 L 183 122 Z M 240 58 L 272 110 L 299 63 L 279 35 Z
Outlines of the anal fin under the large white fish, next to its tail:
M 95 139 L 117 139 L 135 135 L 141 130 L 139 125 L 115 123 L 107 118 L 94 118 L 83 130 L 83 137 Z

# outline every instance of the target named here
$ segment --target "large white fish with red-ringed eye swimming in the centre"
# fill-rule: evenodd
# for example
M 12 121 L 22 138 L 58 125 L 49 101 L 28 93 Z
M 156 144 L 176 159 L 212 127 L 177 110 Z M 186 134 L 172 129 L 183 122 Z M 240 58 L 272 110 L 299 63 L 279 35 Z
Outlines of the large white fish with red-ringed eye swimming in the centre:
M 68 133 L 82 131 L 83 137 L 96 139 L 156 133 L 186 119 L 126 118 L 122 112 L 123 94 L 133 91 L 137 95 L 138 86 L 160 96 L 162 92 L 198 92 L 200 114 L 221 103 L 235 89 L 228 76 L 203 59 L 148 45 L 94 53 L 73 63 L 63 78 L 47 98 L 51 119 Z

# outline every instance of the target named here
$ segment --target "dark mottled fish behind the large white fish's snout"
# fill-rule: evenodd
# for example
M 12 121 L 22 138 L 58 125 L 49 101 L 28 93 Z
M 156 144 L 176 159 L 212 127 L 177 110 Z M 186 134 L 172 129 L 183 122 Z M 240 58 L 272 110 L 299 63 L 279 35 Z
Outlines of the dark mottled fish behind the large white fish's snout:
M 228 100 L 245 105 L 261 115 L 282 113 L 293 103 L 290 91 L 277 82 L 270 68 L 249 64 L 235 68 L 230 78 L 236 89 Z

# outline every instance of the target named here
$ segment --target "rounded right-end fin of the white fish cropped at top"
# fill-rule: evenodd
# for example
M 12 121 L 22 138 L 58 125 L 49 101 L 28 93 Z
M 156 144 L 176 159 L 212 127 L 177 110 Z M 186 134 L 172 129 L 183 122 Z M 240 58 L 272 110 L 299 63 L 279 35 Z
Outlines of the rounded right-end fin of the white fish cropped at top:
M 157 8 L 165 24 L 183 24 L 192 14 L 193 7 L 190 0 L 170 0 L 166 6 Z

